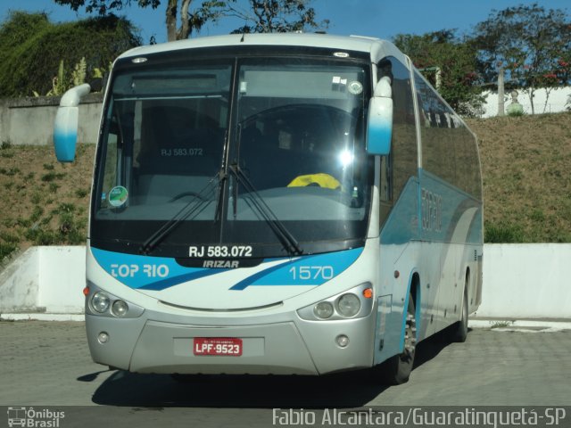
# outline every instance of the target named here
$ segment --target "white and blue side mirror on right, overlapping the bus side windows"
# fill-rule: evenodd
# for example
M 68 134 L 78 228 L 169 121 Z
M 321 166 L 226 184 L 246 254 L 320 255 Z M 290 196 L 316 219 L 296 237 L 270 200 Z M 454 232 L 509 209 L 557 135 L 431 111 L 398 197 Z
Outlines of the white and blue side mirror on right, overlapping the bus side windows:
M 391 152 L 393 137 L 393 88 L 391 79 L 381 78 L 375 87 L 375 95 L 368 104 L 367 152 L 386 155 Z

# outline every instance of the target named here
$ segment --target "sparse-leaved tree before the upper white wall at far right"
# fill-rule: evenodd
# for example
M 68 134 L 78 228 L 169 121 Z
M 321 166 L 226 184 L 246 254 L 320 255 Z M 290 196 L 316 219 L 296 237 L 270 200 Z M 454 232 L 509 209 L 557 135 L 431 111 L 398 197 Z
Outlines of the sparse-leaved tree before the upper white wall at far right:
M 571 82 L 571 21 L 565 11 L 538 4 L 494 10 L 476 25 L 473 42 L 486 80 L 495 80 L 499 68 L 506 70 L 509 84 L 529 95 L 533 113 L 538 87 Z

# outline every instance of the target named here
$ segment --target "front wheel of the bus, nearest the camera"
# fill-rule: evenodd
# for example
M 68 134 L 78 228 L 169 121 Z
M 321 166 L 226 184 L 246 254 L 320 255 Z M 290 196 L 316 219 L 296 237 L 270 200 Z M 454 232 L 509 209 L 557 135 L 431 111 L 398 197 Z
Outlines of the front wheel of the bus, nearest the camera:
M 376 378 L 385 385 L 400 385 L 409 380 L 414 364 L 414 353 L 417 347 L 417 320 L 415 318 L 415 301 L 409 296 L 407 320 L 404 327 L 404 350 L 401 354 L 393 355 L 385 362 L 373 367 Z

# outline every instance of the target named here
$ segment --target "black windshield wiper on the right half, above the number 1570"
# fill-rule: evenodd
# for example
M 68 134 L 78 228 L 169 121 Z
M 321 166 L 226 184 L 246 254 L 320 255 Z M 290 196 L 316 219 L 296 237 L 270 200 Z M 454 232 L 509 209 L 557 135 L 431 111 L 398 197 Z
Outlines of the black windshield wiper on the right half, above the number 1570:
M 269 208 L 260 193 L 258 193 L 256 188 L 252 185 L 250 178 L 244 174 L 242 169 L 240 169 L 236 163 L 230 165 L 228 169 L 232 174 L 234 174 L 238 183 L 244 185 L 246 191 L 252 195 L 250 200 L 252 201 L 253 206 L 258 210 L 258 212 L 260 212 L 261 217 L 268 223 L 280 243 L 284 245 L 285 251 L 293 256 L 302 254 L 303 251 L 300 248 L 300 244 L 294 238 L 294 235 L 287 230 L 284 223 L 282 223 L 282 221 L 277 218 L 276 214 L 274 214 L 274 212 Z

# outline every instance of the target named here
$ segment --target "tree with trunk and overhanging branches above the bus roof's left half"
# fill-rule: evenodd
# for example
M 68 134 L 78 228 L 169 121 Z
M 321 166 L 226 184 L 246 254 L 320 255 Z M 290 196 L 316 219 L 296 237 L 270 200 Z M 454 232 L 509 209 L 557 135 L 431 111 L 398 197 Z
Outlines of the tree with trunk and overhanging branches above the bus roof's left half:
M 327 28 L 328 24 L 328 21 L 315 21 L 316 12 L 308 7 L 311 0 L 206 0 L 194 9 L 191 9 L 193 0 L 54 0 L 57 4 L 69 5 L 76 12 L 85 6 L 87 12 L 97 12 L 101 16 L 120 11 L 136 1 L 140 7 L 150 6 L 153 9 L 166 4 L 168 41 L 188 38 L 194 30 L 200 31 L 206 22 L 225 17 L 235 17 L 246 22 L 235 33 L 320 29 Z M 239 3 L 247 3 L 250 10 Z

